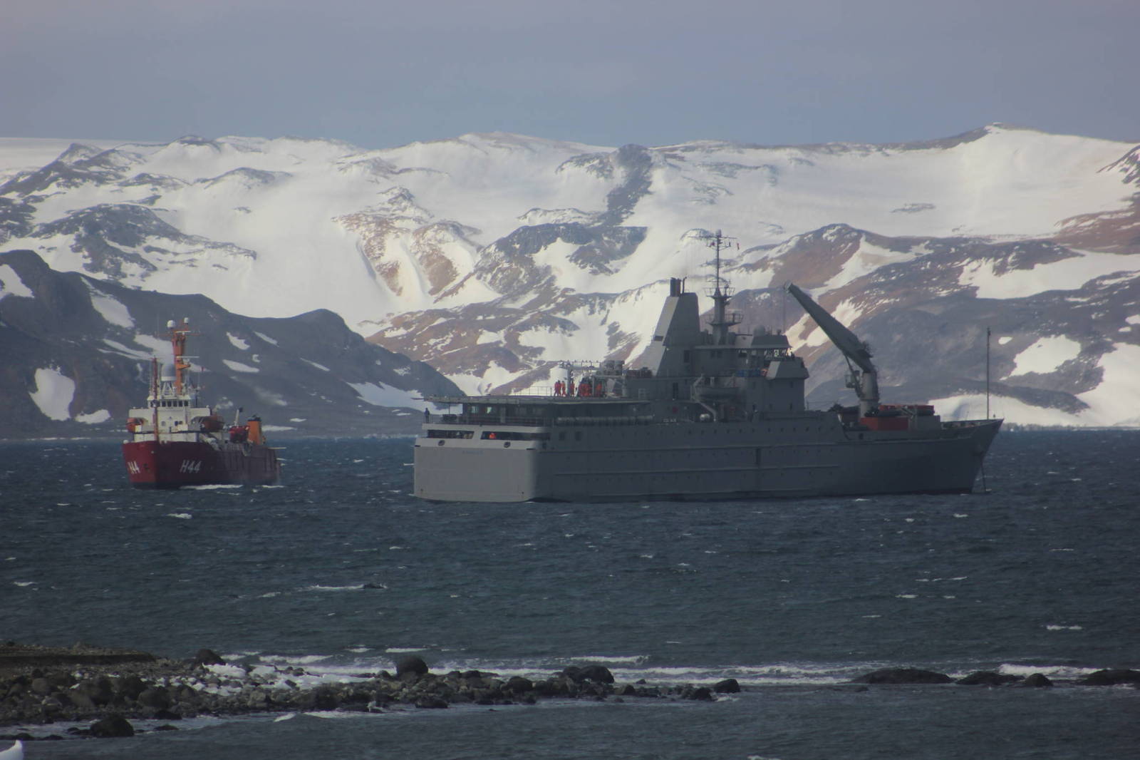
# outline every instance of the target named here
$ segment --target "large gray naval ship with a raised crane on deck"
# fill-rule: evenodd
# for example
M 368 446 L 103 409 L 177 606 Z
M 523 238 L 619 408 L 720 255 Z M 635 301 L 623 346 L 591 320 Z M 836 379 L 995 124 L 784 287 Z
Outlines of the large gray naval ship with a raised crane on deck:
M 734 332 L 717 274 L 710 330 L 670 280 L 641 365 L 563 363 L 545 394 L 425 396 L 415 495 L 516 502 L 730 500 L 974 488 L 1001 420 L 942 421 L 879 403 L 871 351 L 795 284 L 787 290 L 847 357 L 858 406 L 804 405 L 807 367 L 780 332 Z M 576 381 L 577 380 L 577 381 Z

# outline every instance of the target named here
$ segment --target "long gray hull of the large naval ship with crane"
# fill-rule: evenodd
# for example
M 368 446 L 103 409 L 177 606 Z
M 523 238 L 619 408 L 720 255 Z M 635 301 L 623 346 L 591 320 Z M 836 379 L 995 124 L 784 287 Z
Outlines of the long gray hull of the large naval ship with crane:
M 789 415 L 762 423 L 516 428 L 536 439 L 513 442 L 484 440 L 478 430 L 433 438 L 425 427 L 415 447 L 415 494 L 620 502 L 964 493 L 1000 426 L 848 431 L 821 417 Z

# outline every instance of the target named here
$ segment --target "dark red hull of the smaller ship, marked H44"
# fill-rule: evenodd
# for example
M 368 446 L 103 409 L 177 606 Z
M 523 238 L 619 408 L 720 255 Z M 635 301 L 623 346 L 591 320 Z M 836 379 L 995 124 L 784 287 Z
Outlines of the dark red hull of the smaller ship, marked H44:
M 280 478 L 277 452 L 256 444 L 137 440 L 123 444 L 127 475 L 136 488 L 184 485 L 270 485 Z

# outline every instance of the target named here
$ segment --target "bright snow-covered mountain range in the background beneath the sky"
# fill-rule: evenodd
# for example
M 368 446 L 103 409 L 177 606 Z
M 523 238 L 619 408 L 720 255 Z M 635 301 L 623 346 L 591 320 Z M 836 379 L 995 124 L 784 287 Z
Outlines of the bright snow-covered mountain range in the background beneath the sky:
M 872 345 L 885 399 L 984 413 L 988 326 L 996 414 L 1140 423 L 1131 144 L 992 124 L 896 145 L 229 137 L 75 144 L 40 165 L 21 149 L 0 140 L 0 250 L 254 317 L 329 309 L 469 391 L 635 361 L 666 280 L 693 289 L 699 235 L 723 229 L 731 308 L 788 330 L 817 405 L 847 398 L 842 359 L 788 281 Z

